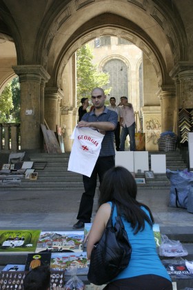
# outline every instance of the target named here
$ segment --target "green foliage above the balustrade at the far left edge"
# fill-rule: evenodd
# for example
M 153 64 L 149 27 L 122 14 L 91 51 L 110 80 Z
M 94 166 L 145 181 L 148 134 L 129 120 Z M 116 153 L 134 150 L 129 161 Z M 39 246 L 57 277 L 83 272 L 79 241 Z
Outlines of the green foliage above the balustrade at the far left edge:
M 19 77 L 12 79 L 0 96 L 0 122 L 20 122 Z

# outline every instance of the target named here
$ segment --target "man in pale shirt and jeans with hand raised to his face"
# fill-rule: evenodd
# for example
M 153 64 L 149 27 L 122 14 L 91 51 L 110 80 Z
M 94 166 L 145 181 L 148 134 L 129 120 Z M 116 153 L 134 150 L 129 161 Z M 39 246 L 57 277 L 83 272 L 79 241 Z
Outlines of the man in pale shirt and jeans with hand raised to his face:
M 134 110 L 132 104 L 128 103 L 127 97 L 121 97 L 121 118 L 120 126 L 121 130 L 121 144 L 120 151 L 125 151 L 125 140 L 126 137 L 130 136 L 130 151 L 135 151 L 135 119 Z

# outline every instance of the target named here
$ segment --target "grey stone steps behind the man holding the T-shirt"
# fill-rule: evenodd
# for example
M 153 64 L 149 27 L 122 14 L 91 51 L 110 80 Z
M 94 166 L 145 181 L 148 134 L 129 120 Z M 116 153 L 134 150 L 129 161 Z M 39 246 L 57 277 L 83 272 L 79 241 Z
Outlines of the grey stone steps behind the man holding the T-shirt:
M 152 154 L 165 154 L 166 155 L 166 168 L 170 170 L 183 170 L 187 168 L 187 163 L 185 162 L 185 157 L 181 151 L 171 151 L 171 152 L 158 152 L 151 151 L 149 152 L 149 168 L 150 156 Z M 31 153 L 28 155 L 28 160 L 37 164 L 37 169 L 35 172 L 38 172 L 37 180 L 28 180 L 25 178 L 21 179 L 21 184 L 10 185 L 5 184 L 0 186 L 0 191 L 2 189 L 14 189 L 17 190 L 83 190 L 82 175 L 77 173 L 72 173 L 68 171 L 68 160 L 70 153 L 62 154 L 48 154 L 48 153 Z M 41 162 L 45 162 L 45 168 L 41 168 Z M 40 165 L 40 166 L 39 166 Z M 143 177 L 143 173 L 136 173 L 136 177 Z M 145 184 L 138 184 L 139 187 L 143 188 L 153 188 L 161 189 L 168 188 L 170 189 L 170 182 L 167 179 L 165 174 L 154 174 L 153 180 L 146 180 Z

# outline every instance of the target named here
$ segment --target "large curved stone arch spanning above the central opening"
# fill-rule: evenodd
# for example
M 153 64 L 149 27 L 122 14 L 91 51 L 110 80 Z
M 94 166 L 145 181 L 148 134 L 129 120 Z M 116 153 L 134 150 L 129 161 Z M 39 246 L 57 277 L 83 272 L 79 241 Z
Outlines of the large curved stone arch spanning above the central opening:
M 50 84 L 58 84 L 68 59 L 83 43 L 102 35 L 132 41 L 152 61 L 159 83 L 170 83 L 169 72 L 175 62 L 187 59 L 187 41 L 180 17 L 174 17 L 179 14 L 174 14 L 173 6 L 165 6 L 168 1 L 164 5 L 163 2 L 70 1 L 52 20 L 44 40 L 41 37 L 37 41 L 38 51 L 43 54 L 36 57 L 43 59 L 43 66 L 52 75 Z M 45 17 L 43 27 L 48 27 L 48 23 Z

